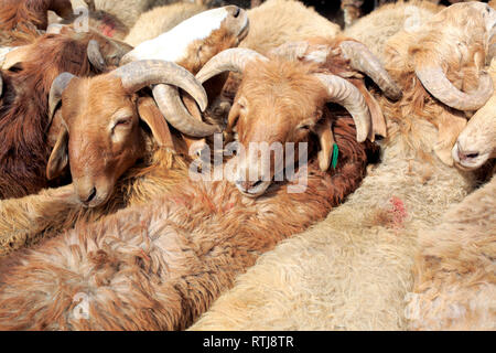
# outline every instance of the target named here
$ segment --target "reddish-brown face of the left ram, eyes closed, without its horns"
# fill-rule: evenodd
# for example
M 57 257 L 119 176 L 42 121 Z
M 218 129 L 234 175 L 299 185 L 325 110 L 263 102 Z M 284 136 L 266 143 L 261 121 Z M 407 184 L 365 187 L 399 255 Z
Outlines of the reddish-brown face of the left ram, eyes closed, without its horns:
M 62 101 L 67 133 L 51 161 L 68 158 L 80 202 L 97 206 L 110 197 L 118 178 L 142 156 L 137 97 L 118 78 L 104 75 L 72 79 Z

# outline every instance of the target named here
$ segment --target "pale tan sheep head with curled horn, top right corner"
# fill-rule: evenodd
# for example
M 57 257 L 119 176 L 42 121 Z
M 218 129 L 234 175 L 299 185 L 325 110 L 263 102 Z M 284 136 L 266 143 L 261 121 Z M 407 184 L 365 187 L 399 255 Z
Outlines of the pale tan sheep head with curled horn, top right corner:
M 425 89 L 449 107 L 474 111 L 493 94 L 493 82 L 484 71 L 496 33 L 496 11 L 482 2 L 456 3 L 439 12 L 414 33 L 392 40 L 392 52 L 407 45 Z M 412 41 L 406 40 L 409 36 Z M 391 71 L 402 69 L 391 65 Z

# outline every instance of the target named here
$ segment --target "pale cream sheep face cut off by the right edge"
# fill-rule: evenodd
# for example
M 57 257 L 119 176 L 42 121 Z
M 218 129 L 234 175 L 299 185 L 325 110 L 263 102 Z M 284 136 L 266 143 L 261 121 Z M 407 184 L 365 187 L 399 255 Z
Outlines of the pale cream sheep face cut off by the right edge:
M 496 86 L 496 60 L 493 60 L 488 72 Z M 452 151 L 456 167 L 475 170 L 483 167 L 489 159 L 496 158 L 495 105 L 496 94 L 477 110 L 460 133 Z

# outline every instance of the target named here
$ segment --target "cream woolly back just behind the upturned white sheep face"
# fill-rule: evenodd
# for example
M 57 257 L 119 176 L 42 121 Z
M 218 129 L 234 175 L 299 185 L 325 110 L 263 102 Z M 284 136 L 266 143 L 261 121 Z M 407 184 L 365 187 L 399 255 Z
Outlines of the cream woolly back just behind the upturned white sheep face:
M 125 42 L 137 46 L 144 41 L 165 33 L 188 18 L 205 11 L 205 6 L 196 3 L 174 3 L 154 8 L 140 15 Z

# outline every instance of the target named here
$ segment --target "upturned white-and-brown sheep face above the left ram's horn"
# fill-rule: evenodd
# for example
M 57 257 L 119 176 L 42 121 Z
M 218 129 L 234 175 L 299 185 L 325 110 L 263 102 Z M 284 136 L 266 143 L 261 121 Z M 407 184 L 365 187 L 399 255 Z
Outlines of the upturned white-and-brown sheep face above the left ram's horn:
M 208 58 L 233 46 L 248 34 L 245 10 L 228 6 L 198 13 L 157 39 L 138 45 L 122 64 L 138 60 L 165 60 L 196 73 Z

